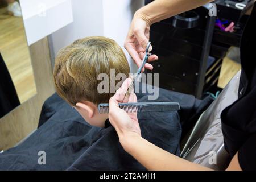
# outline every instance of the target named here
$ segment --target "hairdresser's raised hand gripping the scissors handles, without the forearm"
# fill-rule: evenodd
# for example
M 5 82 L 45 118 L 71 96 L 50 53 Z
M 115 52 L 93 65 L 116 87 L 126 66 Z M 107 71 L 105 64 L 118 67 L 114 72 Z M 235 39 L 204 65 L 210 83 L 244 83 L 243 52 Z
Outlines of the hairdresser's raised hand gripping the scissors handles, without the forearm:
M 142 64 L 142 59 L 150 38 L 150 22 L 145 19 L 146 18 L 143 17 L 143 15 L 141 15 L 138 11 L 134 14 L 130 30 L 125 40 L 125 49 L 129 52 L 130 56 L 134 60 L 134 63 L 137 64 L 138 67 Z M 151 50 L 152 46 L 150 47 L 150 51 Z M 158 60 L 158 56 L 151 55 L 148 57 L 148 62 L 155 60 Z M 152 70 L 153 66 L 146 63 L 144 68 Z M 142 71 L 144 71 L 144 68 Z

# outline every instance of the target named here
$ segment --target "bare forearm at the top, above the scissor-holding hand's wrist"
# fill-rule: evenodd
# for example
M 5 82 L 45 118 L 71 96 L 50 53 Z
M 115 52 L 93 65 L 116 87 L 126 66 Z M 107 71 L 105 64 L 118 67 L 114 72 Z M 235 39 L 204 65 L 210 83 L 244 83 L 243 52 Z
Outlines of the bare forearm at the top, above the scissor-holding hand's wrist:
M 155 0 L 139 9 L 136 15 L 151 25 L 160 20 L 183 13 L 196 7 L 202 6 L 213 0 Z

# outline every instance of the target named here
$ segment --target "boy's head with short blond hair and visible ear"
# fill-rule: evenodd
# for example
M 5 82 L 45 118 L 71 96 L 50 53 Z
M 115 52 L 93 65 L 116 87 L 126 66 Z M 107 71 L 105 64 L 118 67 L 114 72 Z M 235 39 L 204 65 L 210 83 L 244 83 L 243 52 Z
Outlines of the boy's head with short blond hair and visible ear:
M 115 75 L 125 73 L 127 77 L 130 72 L 121 47 L 114 40 L 100 36 L 76 40 L 61 49 L 55 59 L 56 92 L 94 126 L 104 127 L 108 118 L 98 113 L 97 105 L 108 102 L 113 93 L 100 94 L 97 88 L 101 80 L 97 78 L 106 73 L 110 85 L 110 69 L 115 69 Z

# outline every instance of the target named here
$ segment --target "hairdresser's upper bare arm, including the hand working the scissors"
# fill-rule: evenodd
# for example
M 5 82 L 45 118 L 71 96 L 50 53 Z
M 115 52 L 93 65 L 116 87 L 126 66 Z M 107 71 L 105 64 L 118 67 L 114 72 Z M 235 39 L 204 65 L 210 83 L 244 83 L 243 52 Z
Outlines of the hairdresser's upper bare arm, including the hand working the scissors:
M 212 0 L 155 0 L 139 9 L 131 22 L 125 48 L 139 67 L 144 51 L 149 40 L 149 31 L 152 23 L 169 18 L 184 11 L 195 9 Z M 157 60 L 158 56 L 152 55 L 148 61 Z M 145 68 L 153 69 L 151 64 Z

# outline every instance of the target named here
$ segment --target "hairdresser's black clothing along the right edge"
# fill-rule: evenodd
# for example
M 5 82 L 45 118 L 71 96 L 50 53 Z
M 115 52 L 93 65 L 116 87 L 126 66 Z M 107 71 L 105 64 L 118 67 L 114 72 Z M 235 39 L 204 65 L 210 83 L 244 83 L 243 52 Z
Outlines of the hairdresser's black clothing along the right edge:
M 256 6 L 241 40 L 242 73 L 238 100 L 221 114 L 225 148 L 238 152 L 243 170 L 256 170 Z

